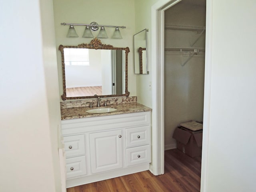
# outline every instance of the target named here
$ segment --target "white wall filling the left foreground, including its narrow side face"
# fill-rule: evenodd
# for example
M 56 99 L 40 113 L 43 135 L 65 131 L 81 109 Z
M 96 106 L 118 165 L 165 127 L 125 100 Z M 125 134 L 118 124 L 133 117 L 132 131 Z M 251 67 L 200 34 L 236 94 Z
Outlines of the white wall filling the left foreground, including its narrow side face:
M 54 28 L 44 15 L 53 14 L 52 1 L 40 3 L 10 0 L 0 8 L 0 191 L 61 188 Z

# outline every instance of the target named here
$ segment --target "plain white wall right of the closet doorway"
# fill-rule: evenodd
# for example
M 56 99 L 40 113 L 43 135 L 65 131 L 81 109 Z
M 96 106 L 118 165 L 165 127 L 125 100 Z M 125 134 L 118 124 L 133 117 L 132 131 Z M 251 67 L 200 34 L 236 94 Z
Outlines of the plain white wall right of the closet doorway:
M 206 85 L 206 100 L 210 106 L 204 112 L 209 136 L 203 143 L 204 191 L 253 192 L 256 2 L 207 0 L 206 4 L 206 48 L 212 57 L 206 58 L 206 81 L 210 84 L 210 88 Z M 206 138 L 204 134 L 203 140 Z M 208 146 L 208 151 L 204 146 Z

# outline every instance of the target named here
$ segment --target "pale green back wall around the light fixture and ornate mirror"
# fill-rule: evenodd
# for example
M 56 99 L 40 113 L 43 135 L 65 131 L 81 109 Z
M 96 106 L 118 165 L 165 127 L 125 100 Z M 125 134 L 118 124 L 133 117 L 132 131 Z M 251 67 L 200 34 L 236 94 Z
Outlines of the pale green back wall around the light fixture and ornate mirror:
M 90 24 L 95 21 L 102 25 L 118 25 L 126 26 L 125 29 L 120 28 L 122 39 L 112 39 L 115 28 L 105 28 L 108 39 L 101 39 L 103 44 L 111 44 L 114 47 L 129 47 L 128 54 L 128 91 L 130 96 L 136 96 L 136 77 L 134 74 L 133 62 L 133 34 L 135 33 L 134 24 L 134 0 L 54 0 L 54 22 L 56 30 L 56 50 L 58 60 L 58 72 L 60 83 L 60 95 L 62 90 L 61 75 L 61 56 L 58 46 L 62 45 L 78 45 L 81 43 L 90 43 L 91 38 L 82 38 L 84 26 L 75 26 L 78 38 L 66 38 L 69 26 L 62 26 L 60 23 L 84 23 Z M 94 36 L 98 32 L 93 32 Z

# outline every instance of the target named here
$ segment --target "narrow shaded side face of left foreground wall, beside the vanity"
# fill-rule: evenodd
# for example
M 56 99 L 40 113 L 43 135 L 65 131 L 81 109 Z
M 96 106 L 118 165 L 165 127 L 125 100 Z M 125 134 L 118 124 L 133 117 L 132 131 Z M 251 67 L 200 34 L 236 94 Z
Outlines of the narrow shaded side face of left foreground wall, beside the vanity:
M 52 148 L 52 161 L 54 171 L 55 191 L 59 192 L 65 188 L 60 176 L 60 161 L 58 148 L 62 148 L 60 142 L 60 99 L 58 84 L 58 68 L 56 58 L 55 31 L 53 19 L 52 0 L 40 0 L 42 51 L 44 76 L 46 82 L 46 96 L 48 102 L 50 146 Z M 41 162 L 43 163 L 43 162 Z M 62 176 L 62 178 L 65 178 Z

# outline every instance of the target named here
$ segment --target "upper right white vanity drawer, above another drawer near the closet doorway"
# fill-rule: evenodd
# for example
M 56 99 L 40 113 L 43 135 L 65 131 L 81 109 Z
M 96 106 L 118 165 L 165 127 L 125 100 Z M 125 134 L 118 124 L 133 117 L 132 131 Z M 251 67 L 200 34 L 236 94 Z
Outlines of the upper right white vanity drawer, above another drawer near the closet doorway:
M 150 126 L 125 129 L 126 147 L 150 144 Z

